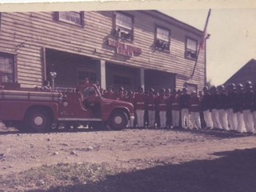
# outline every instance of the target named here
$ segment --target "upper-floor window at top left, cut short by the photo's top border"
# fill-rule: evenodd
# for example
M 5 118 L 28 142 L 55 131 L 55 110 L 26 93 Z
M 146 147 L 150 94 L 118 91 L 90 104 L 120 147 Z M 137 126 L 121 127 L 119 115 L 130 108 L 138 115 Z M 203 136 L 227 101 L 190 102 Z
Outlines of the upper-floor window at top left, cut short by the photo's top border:
M 58 12 L 58 20 L 62 22 L 69 22 L 75 25 L 82 26 L 81 12 L 74 11 L 60 11 Z

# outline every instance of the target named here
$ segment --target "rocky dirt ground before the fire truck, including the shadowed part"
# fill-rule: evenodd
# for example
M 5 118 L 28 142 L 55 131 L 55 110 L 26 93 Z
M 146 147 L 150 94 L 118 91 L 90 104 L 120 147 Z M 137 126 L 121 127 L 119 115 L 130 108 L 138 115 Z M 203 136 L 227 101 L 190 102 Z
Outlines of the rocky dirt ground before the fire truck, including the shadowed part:
M 112 191 L 256 190 L 255 135 L 221 130 L 79 130 L 42 134 L 25 134 L 5 127 L 0 130 L 0 179 L 34 167 L 74 162 L 107 163 L 118 169 L 132 171 L 132 176 L 122 175 L 126 178 L 136 178 L 138 171 L 146 171 L 145 174 L 150 175 L 156 167 L 164 173 L 170 170 L 168 174 L 158 175 L 153 172 L 158 179 L 165 177 L 169 180 L 166 177 L 170 177 L 174 182 L 179 178 L 172 184 L 174 190 L 166 190 L 165 187 L 170 187 L 165 186 L 166 182 L 159 182 L 161 187 L 158 186 L 158 189 L 150 185 L 147 187 L 151 190 L 145 186 L 142 189 L 138 184 L 134 188 L 137 190 L 124 190 L 126 184 L 122 182 L 124 186 L 121 190 L 118 188 Z M 210 167 L 210 170 L 207 167 Z M 187 175 L 191 178 L 186 178 Z M 193 182 L 190 183 L 191 181 Z M 196 184 L 194 181 L 197 181 Z M 183 182 L 191 184 L 190 190 L 184 188 Z M 201 183 L 206 186 L 202 186 Z M 210 190 L 216 185 L 217 190 Z

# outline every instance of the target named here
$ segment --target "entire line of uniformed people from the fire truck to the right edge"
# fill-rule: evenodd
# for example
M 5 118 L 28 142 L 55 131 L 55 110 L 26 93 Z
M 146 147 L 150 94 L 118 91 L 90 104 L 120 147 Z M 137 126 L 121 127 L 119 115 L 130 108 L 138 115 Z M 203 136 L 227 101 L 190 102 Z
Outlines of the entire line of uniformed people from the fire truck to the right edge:
M 121 90 L 121 91 L 120 91 Z M 134 104 L 136 122 L 130 126 L 178 127 L 182 128 L 219 128 L 223 130 L 237 130 L 238 132 L 254 133 L 256 126 L 256 92 L 254 94 L 251 82 L 234 86 L 212 86 L 210 90 L 204 87 L 203 94 L 187 94 L 186 88 L 181 91 L 162 89 L 155 94 L 150 89 L 149 94 L 143 92 L 142 87 L 136 94 L 126 95 L 123 89 L 115 94 L 110 87 L 106 98 L 121 99 Z M 200 117 L 200 114 L 201 117 Z

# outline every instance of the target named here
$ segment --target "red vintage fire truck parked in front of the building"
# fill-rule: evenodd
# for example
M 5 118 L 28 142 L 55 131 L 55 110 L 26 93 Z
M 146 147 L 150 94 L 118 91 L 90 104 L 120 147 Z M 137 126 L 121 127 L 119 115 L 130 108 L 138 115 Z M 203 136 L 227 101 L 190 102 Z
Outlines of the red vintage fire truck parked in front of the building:
M 45 132 L 60 127 L 110 127 L 122 130 L 134 118 L 134 106 L 102 98 L 98 86 L 73 89 L 22 88 L 18 83 L 0 87 L 0 121 L 18 130 Z

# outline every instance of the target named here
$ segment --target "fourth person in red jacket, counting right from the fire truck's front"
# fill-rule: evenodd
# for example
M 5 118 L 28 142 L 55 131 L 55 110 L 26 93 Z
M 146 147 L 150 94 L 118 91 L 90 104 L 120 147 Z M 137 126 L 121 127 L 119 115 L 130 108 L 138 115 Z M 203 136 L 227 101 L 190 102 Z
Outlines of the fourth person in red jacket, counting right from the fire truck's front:
M 179 96 L 181 92 L 174 90 L 174 94 L 170 98 L 170 109 L 171 109 L 171 119 L 172 125 L 174 128 L 179 127 L 179 120 L 180 120 L 180 110 L 181 107 L 179 105 Z

